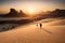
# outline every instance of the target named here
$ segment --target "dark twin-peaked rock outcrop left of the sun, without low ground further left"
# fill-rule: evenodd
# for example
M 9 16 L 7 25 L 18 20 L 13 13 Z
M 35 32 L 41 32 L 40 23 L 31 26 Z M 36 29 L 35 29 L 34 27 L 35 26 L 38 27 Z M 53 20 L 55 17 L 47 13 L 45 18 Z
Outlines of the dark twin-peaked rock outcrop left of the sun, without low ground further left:
M 15 9 L 11 9 L 10 12 L 5 15 L 5 17 L 23 17 L 24 13 L 21 11 L 18 13 Z

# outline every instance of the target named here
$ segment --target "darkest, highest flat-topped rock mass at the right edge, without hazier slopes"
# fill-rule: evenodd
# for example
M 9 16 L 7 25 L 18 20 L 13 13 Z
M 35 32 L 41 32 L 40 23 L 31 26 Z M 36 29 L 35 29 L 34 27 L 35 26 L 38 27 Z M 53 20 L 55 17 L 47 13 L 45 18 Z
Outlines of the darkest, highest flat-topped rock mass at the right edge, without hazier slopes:
M 65 17 L 65 10 L 56 9 L 55 11 L 49 14 L 51 17 Z

